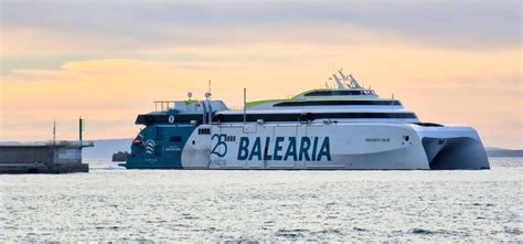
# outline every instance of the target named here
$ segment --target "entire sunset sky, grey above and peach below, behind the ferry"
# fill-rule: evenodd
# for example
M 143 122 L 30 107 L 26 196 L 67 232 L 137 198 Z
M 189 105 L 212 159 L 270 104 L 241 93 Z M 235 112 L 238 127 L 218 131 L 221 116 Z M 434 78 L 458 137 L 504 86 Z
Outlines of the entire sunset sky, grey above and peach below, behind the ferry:
M 522 3 L 0 0 L 0 140 L 134 138 L 153 100 L 241 107 L 343 67 L 423 121 L 523 148 Z M 332 84 L 333 85 L 333 84 Z

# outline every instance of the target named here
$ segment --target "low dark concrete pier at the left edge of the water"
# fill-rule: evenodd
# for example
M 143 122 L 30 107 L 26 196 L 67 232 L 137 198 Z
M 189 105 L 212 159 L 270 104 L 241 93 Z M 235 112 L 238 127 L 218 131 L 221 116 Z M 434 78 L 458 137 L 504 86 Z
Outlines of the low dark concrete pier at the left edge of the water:
M 0 173 L 88 172 L 82 148 L 92 141 L 49 141 L 0 145 Z

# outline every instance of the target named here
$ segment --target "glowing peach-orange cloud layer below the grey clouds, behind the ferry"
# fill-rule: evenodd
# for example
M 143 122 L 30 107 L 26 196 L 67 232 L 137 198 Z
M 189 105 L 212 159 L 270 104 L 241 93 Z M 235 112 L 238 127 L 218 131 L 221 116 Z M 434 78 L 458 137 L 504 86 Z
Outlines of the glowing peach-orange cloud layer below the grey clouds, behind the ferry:
M 521 50 L 298 43 L 189 46 L 174 53 L 246 60 L 113 59 L 71 62 L 60 70 L 18 70 L 2 77 L 1 139 L 49 139 L 53 118 L 73 125 L 61 135 L 76 138 L 79 115 L 93 125 L 87 127 L 88 138 L 132 137 L 136 115 L 153 109 L 152 100 L 184 99 L 189 91 L 202 97 L 210 78 L 215 99 L 239 106 L 243 87 L 248 88 L 249 99 L 288 97 L 324 86 L 329 74 L 344 65 L 382 96 L 394 93 L 424 120 L 471 125 L 487 145 L 523 147 L 517 136 L 522 128 Z M 247 59 L 256 55 L 262 57 Z

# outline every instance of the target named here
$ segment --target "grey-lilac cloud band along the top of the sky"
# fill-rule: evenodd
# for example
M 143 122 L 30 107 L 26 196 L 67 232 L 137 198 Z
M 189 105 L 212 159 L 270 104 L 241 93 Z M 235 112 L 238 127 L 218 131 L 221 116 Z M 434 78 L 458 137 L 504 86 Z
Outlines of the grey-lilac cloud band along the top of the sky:
M 357 35 L 351 33 L 351 26 L 357 26 L 396 33 L 417 44 L 493 49 L 521 45 L 520 10 L 517 0 L 4 1 L 1 26 L 3 32 L 36 29 L 102 40 L 92 45 L 114 39 L 122 47 L 242 44 L 260 35 L 279 41 L 287 31 L 314 41 L 318 28 L 324 30 L 321 36 L 329 36 L 323 41 L 342 42 L 343 36 Z M 252 33 L 257 33 L 255 39 L 249 39 Z

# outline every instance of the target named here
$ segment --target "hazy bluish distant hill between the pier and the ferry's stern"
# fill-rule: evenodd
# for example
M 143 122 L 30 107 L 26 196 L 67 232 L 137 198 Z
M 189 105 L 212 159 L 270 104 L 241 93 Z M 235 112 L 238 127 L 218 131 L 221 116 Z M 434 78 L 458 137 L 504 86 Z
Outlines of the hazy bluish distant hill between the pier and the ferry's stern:
M 83 157 L 85 159 L 108 159 L 118 151 L 130 151 L 132 139 L 107 139 L 94 140 L 95 147 L 84 148 Z

